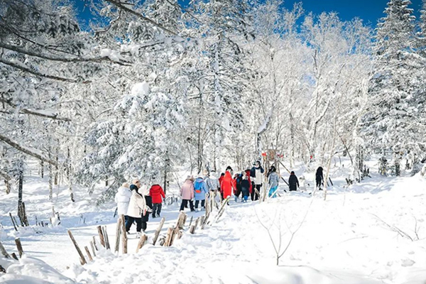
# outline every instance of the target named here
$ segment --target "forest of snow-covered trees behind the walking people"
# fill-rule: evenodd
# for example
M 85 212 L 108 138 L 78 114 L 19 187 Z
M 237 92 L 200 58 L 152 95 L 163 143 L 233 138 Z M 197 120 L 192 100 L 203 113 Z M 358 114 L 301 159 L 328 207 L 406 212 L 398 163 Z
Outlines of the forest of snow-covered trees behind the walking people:
M 53 185 L 245 169 L 267 149 L 327 167 L 426 158 L 426 1 L 376 29 L 282 1 L 0 0 L 0 175 Z M 16 182 L 20 180 L 21 182 Z M 107 190 L 108 192 L 108 190 Z M 111 195 L 104 195 L 109 197 Z

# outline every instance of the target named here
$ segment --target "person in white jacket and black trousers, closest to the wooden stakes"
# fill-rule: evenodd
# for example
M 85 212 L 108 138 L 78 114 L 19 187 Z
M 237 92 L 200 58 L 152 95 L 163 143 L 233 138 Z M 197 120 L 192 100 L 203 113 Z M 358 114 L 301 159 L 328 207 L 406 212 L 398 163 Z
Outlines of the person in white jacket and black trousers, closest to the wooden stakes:
M 136 234 L 139 236 L 142 229 L 142 215 L 146 214 L 147 207 L 145 202 L 145 197 L 143 197 L 142 192 L 145 191 L 141 187 L 141 183 L 138 180 L 133 181 L 133 185 L 130 186 L 131 197 L 129 202 L 129 209 L 127 209 L 127 221 L 126 221 L 126 231 L 129 233 L 131 224 L 136 222 Z

